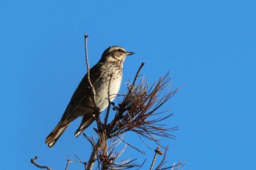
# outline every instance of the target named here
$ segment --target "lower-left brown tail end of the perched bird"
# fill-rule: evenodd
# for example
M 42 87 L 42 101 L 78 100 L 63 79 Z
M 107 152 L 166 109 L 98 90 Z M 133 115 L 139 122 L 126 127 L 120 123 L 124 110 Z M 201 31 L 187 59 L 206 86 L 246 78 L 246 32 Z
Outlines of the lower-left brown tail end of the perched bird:
M 59 121 L 58 125 L 56 125 L 53 131 L 45 139 L 45 144 L 48 144 L 48 147 L 53 147 L 53 145 L 57 142 L 69 124 L 70 121 Z

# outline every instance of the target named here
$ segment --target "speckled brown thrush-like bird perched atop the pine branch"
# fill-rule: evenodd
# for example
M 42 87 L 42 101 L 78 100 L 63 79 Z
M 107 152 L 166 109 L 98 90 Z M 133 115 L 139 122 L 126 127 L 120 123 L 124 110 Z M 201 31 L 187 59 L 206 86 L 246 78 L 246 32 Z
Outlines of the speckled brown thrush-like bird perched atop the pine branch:
M 112 102 L 118 94 L 124 60 L 128 55 L 134 54 L 119 46 L 108 47 L 102 53 L 98 63 L 90 69 L 91 85 L 93 85 L 95 91 L 95 105 L 99 114 L 108 107 L 109 99 Z M 75 131 L 75 137 L 78 137 L 95 120 L 92 116 L 95 113 L 94 109 L 94 95 L 89 83 L 88 73 L 86 73 L 75 93 L 73 93 L 61 120 L 45 139 L 45 144 L 48 144 L 48 147 L 53 147 L 69 124 L 76 118 L 83 117 L 78 130 Z

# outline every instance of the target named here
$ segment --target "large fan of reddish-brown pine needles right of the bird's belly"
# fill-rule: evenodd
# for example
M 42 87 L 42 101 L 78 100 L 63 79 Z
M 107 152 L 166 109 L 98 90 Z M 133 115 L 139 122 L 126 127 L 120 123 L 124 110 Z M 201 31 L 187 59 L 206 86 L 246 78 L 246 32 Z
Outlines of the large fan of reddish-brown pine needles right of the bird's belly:
M 173 114 L 162 116 L 167 110 L 159 111 L 159 108 L 178 91 L 178 89 L 171 91 L 170 85 L 169 73 L 160 77 L 151 87 L 146 79 L 140 80 L 137 86 L 129 90 L 118 107 L 114 107 L 116 117 L 108 125 L 108 137 L 134 131 L 155 142 L 159 142 L 156 138 L 159 136 L 174 139 L 175 136 L 170 134 L 170 131 L 178 128 L 166 128 L 166 125 L 161 124 L 162 120 Z

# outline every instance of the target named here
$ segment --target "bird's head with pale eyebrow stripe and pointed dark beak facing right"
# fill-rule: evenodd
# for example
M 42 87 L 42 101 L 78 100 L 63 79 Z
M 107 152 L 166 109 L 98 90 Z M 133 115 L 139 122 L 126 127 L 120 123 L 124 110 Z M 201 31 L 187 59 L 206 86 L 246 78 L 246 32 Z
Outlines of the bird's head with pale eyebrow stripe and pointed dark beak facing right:
M 124 62 L 125 58 L 127 55 L 133 55 L 135 53 L 133 52 L 127 52 L 124 50 L 122 47 L 118 46 L 112 46 L 108 47 L 107 50 L 104 51 L 102 54 L 102 61 L 107 61 L 107 62 Z

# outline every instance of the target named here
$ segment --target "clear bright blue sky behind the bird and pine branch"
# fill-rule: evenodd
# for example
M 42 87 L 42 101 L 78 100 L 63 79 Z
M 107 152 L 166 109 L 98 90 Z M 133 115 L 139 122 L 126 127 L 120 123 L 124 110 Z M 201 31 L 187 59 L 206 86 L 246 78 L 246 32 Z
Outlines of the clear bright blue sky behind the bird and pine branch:
M 86 73 L 85 33 L 91 66 L 112 45 L 136 53 L 124 63 L 120 93 L 142 62 L 151 83 L 168 71 L 173 90 L 185 82 L 163 107 L 174 114 L 169 127 L 180 126 L 176 140 L 163 140 L 168 165 L 182 159 L 186 169 L 254 169 L 255 7 L 249 0 L 1 0 L 0 169 L 37 169 L 35 155 L 52 169 L 64 169 L 67 157 L 88 158 L 89 143 L 74 137 L 80 120 L 52 149 L 44 144 Z M 136 136 L 125 138 L 146 149 Z M 153 153 L 138 163 L 149 164 Z

